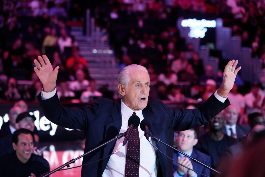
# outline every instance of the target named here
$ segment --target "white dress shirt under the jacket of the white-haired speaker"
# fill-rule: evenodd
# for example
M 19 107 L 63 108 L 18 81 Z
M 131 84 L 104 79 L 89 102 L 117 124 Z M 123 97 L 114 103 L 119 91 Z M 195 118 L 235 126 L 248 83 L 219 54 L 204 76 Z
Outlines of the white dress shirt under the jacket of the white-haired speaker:
M 133 111 L 127 107 L 121 101 L 121 113 L 122 113 L 122 127 L 120 133 L 126 132 L 128 129 L 128 119 L 132 115 Z M 136 115 L 140 118 L 140 121 L 144 119 L 142 110 L 135 111 Z M 154 150 L 153 146 L 150 145 L 146 137 L 144 136 L 143 130 L 138 127 L 139 137 L 140 137 L 140 169 L 139 176 L 157 176 L 157 165 L 156 157 L 157 153 Z M 124 137 L 117 140 L 113 152 L 117 151 L 115 154 L 110 156 L 110 160 L 107 163 L 105 171 L 103 172 L 102 177 L 117 176 L 121 177 L 125 175 L 125 162 L 126 162 L 126 149 L 127 144 L 122 146 Z M 151 138 L 149 138 L 151 140 Z M 154 144 L 154 143 L 153 143 Z

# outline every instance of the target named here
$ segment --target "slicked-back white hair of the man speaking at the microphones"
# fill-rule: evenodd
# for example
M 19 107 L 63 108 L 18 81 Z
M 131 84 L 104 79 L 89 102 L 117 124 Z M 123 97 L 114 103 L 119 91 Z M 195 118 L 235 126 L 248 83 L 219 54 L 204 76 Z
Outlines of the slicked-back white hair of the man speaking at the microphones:
M 145 71 L 148 74 L 148 77 L 150 79 L 148 70 L 145 67 L 143 67 L 142 65 L 132 64 L 132 65 L 125 66 L 120 71 L 120 74 L 118 76 L 117 87 L 119 86 L 119 84 L 121 84 L 122 86 L 127 88 L 128 83 L 129 83 L 129 81 L 131 79 L 130 73 L 132 73 L 132 71 Z M 122 98 L 122 95 L 120 94 L 120 91 L 119 91 L 119 87 L 117 89 L 118 89 L 118 94 L 119 94 L 120 98 Z

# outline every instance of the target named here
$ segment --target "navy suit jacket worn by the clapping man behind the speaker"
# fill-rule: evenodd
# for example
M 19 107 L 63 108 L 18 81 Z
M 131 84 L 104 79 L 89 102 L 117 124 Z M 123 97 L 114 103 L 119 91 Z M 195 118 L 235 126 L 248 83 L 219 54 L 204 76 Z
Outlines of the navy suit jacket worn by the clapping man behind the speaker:
M 208 155 L 196 150 L 195 148 L 193 148 L 193 151 L 191 153 L 191 157 L 195 158 L 196 160 L 200 161 L 201 163 L 211 167 L 211 158 L 210 158 L 210 156 L 208 156 Z M 176 152 L 176 151 L 173 153 L 173 160 L 178 161 L 178 152 Z M 210 176 L 211 170 L 209 170 L 208 168 L 206 168 L 206 167 L 204 167 L 204 166 L 202 166 L 202 165 L 200 165 L 200 164 L 198 164 L 198 163 L 196 163 L 196 162 L 194 162 L 192 160 L 191 160 L 191 163 L 192 163 L 192 167 L 193 167 L 194 171 L 202 173 L 202 174 L 204 174 L 206 176 Z M 175 171 L 177 171 L 177 170 L 178 170 L 178 164 L 173 161 L 173 173 Z M 203 175 L 201 175 L 199 173 L 197 173 L 198 177 L 203 176 Z

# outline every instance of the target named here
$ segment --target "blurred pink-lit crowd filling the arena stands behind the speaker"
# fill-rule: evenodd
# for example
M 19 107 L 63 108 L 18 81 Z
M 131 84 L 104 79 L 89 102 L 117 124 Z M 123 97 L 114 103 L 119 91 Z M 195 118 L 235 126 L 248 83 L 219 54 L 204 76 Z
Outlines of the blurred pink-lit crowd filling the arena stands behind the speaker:
M 211 65 L 203 63 L 192 43 L 179 36 L 176 21 L 184 13 L 222 18 L 224 25 L 231 27 L 232 35 L 241 38 L 242 46 L 252 47 L 253 57 L 262 60 L 263 1 L 106 0 L 91 4 L 96 25 L 108 30 L 120 63 L 119 71 L 132 63 L 148 68 L 150 99 L 200 103 L 222 81 L 223 65 L 216 72 Z M 41 54 L 49 57 L 53 67 L 60 66 L 57 87 L 61 101 L 89 102 L 100 96 L 115 99 L 113 93 L 99 88 L 97 81 L 90 77 L 88 63 L 71 35 L 69 21 L 84 20 L 81 5 L 66 0 L 3 1 L 0 100 L 36 100 L 42 83 L 33 71 L 33 60 Z M 226 62 L 221 55 L 219 60 Z M 261 110 L 265 78 L 261 77 L 260 81 L 246 83 L 239 73 L 229 95 L 240 110 L 243 124 L 254 109 Z

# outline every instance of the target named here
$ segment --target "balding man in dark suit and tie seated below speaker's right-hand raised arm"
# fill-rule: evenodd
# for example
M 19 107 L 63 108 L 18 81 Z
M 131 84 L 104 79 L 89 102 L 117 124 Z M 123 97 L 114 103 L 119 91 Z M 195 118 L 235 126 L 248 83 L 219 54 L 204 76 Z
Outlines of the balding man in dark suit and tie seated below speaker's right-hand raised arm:
M 230 105 L 224 109 L 224 119 L 226 120 L 226 125 L 223 128 L 223 133 L 241 140 L 249 133 L 250 127 L 248 125 L 238 124 L 238 116 L 239 112 L 236 106 Z

